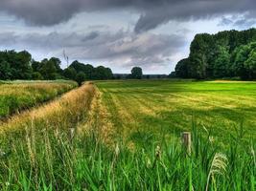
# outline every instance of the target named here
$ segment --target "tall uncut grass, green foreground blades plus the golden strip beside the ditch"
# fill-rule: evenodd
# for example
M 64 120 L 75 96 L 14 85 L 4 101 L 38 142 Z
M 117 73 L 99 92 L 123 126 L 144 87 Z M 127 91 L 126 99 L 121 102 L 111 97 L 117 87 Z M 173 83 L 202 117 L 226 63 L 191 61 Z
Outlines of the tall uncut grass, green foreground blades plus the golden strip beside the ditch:
M 101 118 L 87 126 L 95 91 L 85 84 L 3 127 L 1 190 L 255 190 L 255 139 L 238 133 L 222 146 L 193 124 L 190 156 L 175 136 L 108 144 Z

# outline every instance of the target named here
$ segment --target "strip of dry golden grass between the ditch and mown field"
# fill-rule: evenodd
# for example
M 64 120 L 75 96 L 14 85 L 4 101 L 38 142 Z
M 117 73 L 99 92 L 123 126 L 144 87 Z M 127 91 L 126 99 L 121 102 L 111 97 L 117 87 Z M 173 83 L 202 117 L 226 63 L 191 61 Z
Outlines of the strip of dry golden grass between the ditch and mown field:
M 57 100 L 2 122 L 0 124 L 0 133 L 24 131 L 26 127 L 31 126 L 32 122 L 47 123 L 53 128 L 70 127 L 72 124 L 67 120 L 72 117 L 74 123 L 80 121 L 80 117 L 89 109 L 94 94 L 94 86 L 86 83 L 81 88 L 75 89 Z

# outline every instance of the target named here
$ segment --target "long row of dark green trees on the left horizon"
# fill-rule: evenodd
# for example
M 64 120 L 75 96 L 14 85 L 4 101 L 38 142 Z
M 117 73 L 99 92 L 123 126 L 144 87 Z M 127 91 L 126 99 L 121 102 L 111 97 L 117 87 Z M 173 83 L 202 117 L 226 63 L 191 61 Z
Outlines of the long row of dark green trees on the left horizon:
M 84 80 L 111 79 L 111 69 L 99 66 L 94 68 L 90 64 L 74 61 L 66 69 L 60 68 L 61 61 L 57 57 L 35 61 L 27 51 L 0 52 L 0 79 L 33 79 L 54 80 L 72 79 L 81 83 Z

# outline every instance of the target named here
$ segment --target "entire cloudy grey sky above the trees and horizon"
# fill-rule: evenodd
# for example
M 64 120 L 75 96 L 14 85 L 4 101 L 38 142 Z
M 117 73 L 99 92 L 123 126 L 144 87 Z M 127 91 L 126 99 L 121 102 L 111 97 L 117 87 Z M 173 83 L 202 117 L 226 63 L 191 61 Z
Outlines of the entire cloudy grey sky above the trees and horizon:
M 256 27 L 255 0 L 1 0 L 0 50 L 170 74 L 197 33 Z

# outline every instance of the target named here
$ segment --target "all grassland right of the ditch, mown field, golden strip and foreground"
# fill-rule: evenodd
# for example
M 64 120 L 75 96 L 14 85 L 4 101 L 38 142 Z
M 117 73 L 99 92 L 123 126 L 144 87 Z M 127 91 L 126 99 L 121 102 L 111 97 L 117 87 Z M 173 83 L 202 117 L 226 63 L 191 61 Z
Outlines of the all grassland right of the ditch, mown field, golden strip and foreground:
M 255 82 L 84 83 L 0 123 L 0 189 L 253 191 L 255 93 Z

